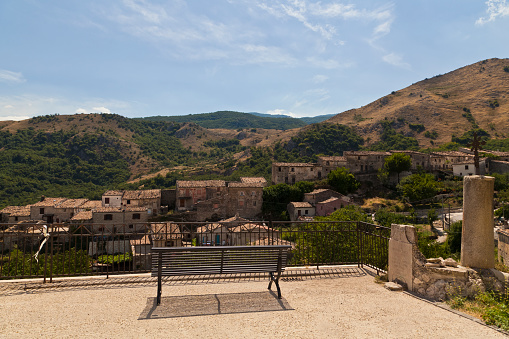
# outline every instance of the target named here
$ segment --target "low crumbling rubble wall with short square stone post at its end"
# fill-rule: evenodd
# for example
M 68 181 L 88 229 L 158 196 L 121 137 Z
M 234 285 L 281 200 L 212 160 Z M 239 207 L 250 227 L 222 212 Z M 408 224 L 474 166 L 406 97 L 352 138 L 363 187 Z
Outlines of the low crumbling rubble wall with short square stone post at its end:
M 431 300 L 474 297 L 486 290 L 503 291 L 508 275 L 495 269 L 459 266 L 452 259 L 426 259 L 417 247 L 413 226 L 392 225 L 389 241 L 389 281 Z

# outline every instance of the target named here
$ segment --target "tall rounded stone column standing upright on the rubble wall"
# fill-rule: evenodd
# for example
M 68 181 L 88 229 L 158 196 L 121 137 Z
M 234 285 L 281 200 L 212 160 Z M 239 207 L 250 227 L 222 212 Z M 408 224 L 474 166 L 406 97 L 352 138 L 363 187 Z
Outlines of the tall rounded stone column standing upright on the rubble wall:
M 463 178 L 463 230 L 461 265 L 495 267 L 493 237 L 493 189 L 495 178 L 481 175 Z

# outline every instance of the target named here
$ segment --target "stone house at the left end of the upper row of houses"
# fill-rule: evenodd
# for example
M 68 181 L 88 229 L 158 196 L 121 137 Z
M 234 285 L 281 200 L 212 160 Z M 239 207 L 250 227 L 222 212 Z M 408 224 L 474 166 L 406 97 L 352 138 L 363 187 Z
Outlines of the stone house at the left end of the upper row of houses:
M 272 182 L 274 184 L 295 184 L 298 181 L 312 181 L 322 177 L 317 164 L 273 163 Z

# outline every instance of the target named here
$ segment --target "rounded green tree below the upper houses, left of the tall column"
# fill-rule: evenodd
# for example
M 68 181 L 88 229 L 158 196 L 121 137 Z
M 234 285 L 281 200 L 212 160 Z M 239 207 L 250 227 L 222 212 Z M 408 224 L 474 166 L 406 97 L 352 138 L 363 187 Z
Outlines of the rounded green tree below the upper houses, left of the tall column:
M 439 189 L 435 177 L 429 173 L 412 174 L 398 185 L 398 191 L 410 201 L 429 199 L 437 194 Z

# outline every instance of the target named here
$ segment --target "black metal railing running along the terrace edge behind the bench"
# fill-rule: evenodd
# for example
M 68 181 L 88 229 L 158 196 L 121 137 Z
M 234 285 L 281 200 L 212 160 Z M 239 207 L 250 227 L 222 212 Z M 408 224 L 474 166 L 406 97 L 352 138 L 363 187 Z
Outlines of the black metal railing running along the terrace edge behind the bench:
M 364 222 L 0 224 L 0 279 L 149 272 L 152 247 L 291 245 L 288 266 L 387 271 L 390 228 Z

